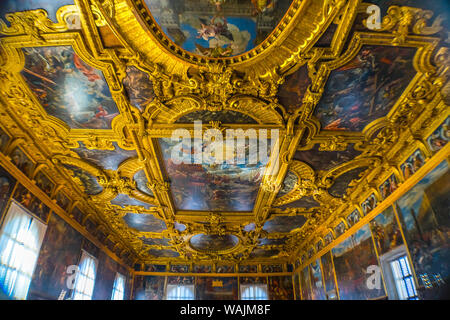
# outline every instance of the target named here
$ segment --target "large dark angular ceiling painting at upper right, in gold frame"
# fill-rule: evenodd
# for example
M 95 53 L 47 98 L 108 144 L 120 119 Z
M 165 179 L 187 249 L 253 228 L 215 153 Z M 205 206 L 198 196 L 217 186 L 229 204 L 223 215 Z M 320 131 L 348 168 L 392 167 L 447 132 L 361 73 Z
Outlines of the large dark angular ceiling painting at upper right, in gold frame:
M 361 131 L 384 117 L 416 74 L 415 52 L 364 46 L 352 61 L 332 71 L 315 111 L 323 129 Z

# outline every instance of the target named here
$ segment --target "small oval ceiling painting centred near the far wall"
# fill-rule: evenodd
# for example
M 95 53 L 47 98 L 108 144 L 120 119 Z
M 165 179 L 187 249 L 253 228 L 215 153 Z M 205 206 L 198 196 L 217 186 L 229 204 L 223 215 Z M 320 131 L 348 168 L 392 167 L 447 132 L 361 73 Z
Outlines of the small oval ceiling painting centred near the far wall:
M 191 247 L 203 252 L 229 250 L 239 243 L 239 238 L 231 235 L 197 234 L 190 239 Z

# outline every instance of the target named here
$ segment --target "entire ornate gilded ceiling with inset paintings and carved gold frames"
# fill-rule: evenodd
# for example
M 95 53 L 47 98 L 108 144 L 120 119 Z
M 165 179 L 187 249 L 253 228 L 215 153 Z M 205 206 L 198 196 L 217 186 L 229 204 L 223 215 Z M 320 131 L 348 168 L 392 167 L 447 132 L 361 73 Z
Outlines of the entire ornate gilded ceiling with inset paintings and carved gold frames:
M 297 266 L 448 139 L 449 5 L 370 4 L 4 1 L 1 163 L 130 265 Z M 176 163 L 196 120 L 279 170 Z

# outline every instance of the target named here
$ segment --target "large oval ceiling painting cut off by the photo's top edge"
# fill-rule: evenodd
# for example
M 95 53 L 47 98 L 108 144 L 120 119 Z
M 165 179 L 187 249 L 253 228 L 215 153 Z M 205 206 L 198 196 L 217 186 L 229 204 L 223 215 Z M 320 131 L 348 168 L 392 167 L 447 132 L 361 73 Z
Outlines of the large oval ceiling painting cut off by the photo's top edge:
M 162 31 L 186 51 L 243 54 L 277 27 L 292 0 L 143 0 Z

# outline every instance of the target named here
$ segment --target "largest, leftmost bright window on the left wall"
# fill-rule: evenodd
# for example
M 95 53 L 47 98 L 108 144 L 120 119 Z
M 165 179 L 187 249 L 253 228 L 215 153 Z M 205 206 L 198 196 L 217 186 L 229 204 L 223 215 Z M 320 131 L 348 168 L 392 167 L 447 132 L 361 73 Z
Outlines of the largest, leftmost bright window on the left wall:
M 26 299 L 47 226 L 11 202 L 0 233 L 0 288 Z

